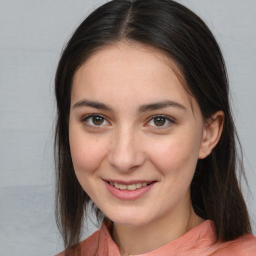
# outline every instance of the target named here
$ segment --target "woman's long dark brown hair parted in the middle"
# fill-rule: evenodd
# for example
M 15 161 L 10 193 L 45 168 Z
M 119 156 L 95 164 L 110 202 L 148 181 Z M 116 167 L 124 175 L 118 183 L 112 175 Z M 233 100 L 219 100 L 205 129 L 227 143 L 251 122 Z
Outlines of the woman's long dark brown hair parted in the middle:
M 243 168 L 237 161 L 238 140 L 230 112 L 226 69 L 214 36 L 196 14 L 175 1 L 111 0 L 94 10 L 74 31 L 62 51 L 55 76 L 56 220 L 65 246 L 77 244 L 84 217 L 91 209 L 90 198 L 75 176 L 69 149 L 72 77 L 89 55 L 120 41 L 138 42 L 165 52 L 179 67 L 203 117 L 209 118 L 217 110 L 224 112 L 218 144 L 197 162 L 191 201 L 197 215 L 214 221 L 219 240 L 250 232 L 236 178 L 236 170 L 243 174 Z

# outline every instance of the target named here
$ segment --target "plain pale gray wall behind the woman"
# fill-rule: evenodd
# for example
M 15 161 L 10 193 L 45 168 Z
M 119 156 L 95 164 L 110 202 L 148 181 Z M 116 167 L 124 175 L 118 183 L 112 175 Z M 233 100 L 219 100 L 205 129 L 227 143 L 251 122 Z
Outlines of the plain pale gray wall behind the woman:
M 102 2 L 0 0 L 0 255 L 63 248 L 53 211 L 54 69 L 66 38 Z M 255 235 L 256 0 L 182 2 L 206 21 L 226 60 Z

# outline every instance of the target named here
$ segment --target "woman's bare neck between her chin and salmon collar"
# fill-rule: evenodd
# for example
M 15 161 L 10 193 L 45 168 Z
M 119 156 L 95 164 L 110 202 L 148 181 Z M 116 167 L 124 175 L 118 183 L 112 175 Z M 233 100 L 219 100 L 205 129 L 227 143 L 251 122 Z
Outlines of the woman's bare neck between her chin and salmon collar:
M 113 224 L 112 238 L 121 256 L 143 254 L 177 239 L 203 222 L 190 204 L 187 210 L 167 213 L 142 226 Z

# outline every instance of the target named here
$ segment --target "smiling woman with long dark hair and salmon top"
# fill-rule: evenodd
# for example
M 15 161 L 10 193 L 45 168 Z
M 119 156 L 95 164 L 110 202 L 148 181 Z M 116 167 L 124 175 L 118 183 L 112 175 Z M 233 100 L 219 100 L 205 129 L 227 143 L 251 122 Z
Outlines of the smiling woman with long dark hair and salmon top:
M 59 255 L 256 254 L 224 61 L 193 12 L 103 4 L 64 48 L 55 95 Z M 78 243 L 91 206 L 103 223 Z

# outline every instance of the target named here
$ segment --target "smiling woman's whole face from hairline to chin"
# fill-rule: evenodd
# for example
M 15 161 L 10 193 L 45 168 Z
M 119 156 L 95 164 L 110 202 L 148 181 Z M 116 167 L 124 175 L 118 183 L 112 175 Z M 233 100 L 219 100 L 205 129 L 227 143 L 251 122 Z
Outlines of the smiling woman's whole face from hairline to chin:
M 203 136 L 196 101 L 167 57 L 105 46 L 75 72 L 69 142 L 77 179 L 112 221 L 139 226 L 191 208 Z

